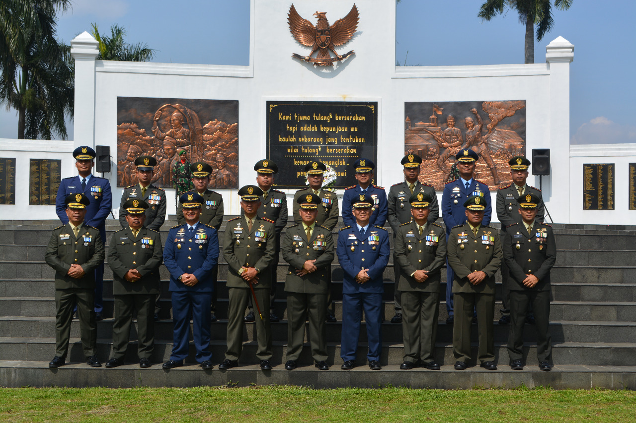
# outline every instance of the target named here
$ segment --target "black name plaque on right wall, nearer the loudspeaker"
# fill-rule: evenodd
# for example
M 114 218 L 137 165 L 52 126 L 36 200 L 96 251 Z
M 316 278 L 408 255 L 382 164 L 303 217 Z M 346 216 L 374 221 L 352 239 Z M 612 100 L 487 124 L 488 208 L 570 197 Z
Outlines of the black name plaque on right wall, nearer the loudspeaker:
M 583 164 L 583 210 L 614 210 L 614 163 Z

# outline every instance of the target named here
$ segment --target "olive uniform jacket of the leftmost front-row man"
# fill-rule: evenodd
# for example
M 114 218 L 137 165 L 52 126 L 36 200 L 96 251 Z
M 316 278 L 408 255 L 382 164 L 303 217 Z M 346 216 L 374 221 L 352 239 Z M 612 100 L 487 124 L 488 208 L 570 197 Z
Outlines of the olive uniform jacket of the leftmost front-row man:
M 65 213 L 66 215 L 66 213 Z M 75 238 L 69 224 L 53 229 L 45 253 L 46 264 L 55 269 L 55 289 L 95 288 L 95 267 L 104 262 L 104 243 L 99 230 L 85 223 L 79 228 Z M 84 269 L 83 278 L 67 275 L 71 264 L 79 264 Z

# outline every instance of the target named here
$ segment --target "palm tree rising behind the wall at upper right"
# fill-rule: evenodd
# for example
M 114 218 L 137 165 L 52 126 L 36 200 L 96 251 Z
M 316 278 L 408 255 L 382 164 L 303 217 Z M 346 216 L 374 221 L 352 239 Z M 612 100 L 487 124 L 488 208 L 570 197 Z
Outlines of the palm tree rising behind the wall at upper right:
M 574 0 L 554 0 L 554 7 L 568 10 Z M 541 41 L 546 32 L 550 32 L 554 20 L 552 18 L 552 2 L 550 0 L 485 0 L 481 5 L 478 17 L 490 20 L 508 6 L 519 13 L 519 22 L 525 24 L 525 62 L 534 63 L 534 25 L 537 25 L 537 41 Z

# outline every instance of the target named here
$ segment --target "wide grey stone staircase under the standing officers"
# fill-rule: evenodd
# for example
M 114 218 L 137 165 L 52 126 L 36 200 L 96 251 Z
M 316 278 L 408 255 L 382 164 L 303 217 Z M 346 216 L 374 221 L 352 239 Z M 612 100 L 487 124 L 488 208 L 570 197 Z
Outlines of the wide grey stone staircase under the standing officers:
M 162 227 L 162 239 L 176 224 L 172 216 Z M 261 372 L 255 357 L 254 324 L 245 325 L 244 351 L 240 367 L 228 371 L 201 370 L 191 359 L 183 368 L 163 370 L 159 363 L 167 360 L 172 348 L 172 319 L 168 272 L 161 267 L 162 313 L 156 323 L 155 351 L 152 368 L 139 369 L 132 342 L 127 363 L 115 369 L 90 368 L 83 363 L 79 342 L 79 324 L 73 322 L 69 365 L 49 369 L 48 361 L 55 349 L 55 301 L 53 270 L 45 264 L 44 254 L 50 230 L 59 222 L 0 221 L 0 382 L 1 386 L 249 386 L 249 384 L 298 384 L 325 387 L 410 386 L 438 388 L 552 386 L 555 388 L 605 387 L 636 389 L 636 226 L 553 225 L 558 248 L 556 265 L 552 271 L 550 331 L 553 340 L 555 368 L 540 372 L 536 365 L 534 326 L 525 326 L 527 366 L 522 371 L 510 370 L 506 341 L 509 326 L 500 326 L 501 295 L 497 285 L 495 304 L 495 354 L 499 370 L 487 371 L 471 367 L 464 372 L 453 370 L 452 326 L 445 325 L 445 298 L 440 297 L 439 327 L 436 361 L 442 370 L 432 372 L 416 368 L 399 370 L 403 361 L 402 326 L 388 323 L 394 314 L 392 298 L 394 275 L 392 258 L 384 272 L 384 311 L 382 325 L 383 351 L 380 372 L 364 365 L 366 329 L 361 328 L 357 362 L 359 367 L 340 370 L 340 333 L 342 330 L 342 270 L 338 259 L 332 265 L 333 299 L 338 323 L 327 325 L 328 372 L 320 372 L 312 365 L 309 346 L 305 344 L 299 368 L 284 370 L 287 340 L 284 274 L 287 264 L 280 259 L 277 269 L 279 285 L 275 309 L 280 323 L 272 323 L 272 371 Z M 107 238 L 120 229 L 116 220 L 107 220 Z M 337 231 L 337 228 L 336 228 Z M 389 229 L 391 231 L 391 229 Z M 225 224 L 219 239 L 225 235 Z M 337 233 L 335 234 L 337 237 Z M 392 241 L 392 239 L 391 239 Z M 215 366 L 225 352 L 227 290 L 223 283 L 227 265 L 219 263 L 219 305 L 221 318 L 212 323 L 212 361 Z M 442 271 L 445 280 L 445 269 Z M 497 281 L 501 276 L 497 274 Z M 102 361 L 109 358 L 113 327 L 113 276 L 108 266 L 104 272 L 104 317 L 97 322 L 97 354 Z M 442 286 L 445 292 L 445 283 Z M 473 326 L 476 340 L 476 326 Z M 136 333 L 133 330 L 133 337 Z M 192 347 L 193 349 L 193 347 Z M 476 344 L 473 346 L 476 356 Z M 193 354 L 191 354 L 193 356 Z M 474 363 L 473 363 L 474 364 Z

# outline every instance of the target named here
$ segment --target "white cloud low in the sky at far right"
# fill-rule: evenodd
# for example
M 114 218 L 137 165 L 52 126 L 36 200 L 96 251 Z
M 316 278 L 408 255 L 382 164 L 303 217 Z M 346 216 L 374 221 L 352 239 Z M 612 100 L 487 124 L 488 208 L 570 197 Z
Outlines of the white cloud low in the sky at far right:
M 636 143 L 636 126 L 618 124 L 598 116 L 582 124 L 570 138 L 570 144 Z

